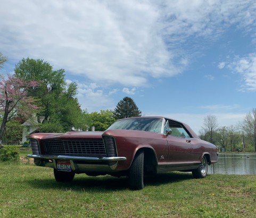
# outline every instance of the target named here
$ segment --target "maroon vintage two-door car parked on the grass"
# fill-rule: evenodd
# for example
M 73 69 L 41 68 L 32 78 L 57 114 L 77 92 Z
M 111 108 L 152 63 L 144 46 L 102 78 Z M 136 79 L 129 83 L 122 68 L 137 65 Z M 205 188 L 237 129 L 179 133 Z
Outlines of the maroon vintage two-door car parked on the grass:
M 72 181 L 76 173 L 128 177 L 130 189 L 144 187 L 144 175 L 169 171 L 207 176 L 218 161 L 215 145 L 201 140 L 185 123 L 164 117 L 126 118 L 104 132 L 70 131 L 30 135 L 38 166 L 52 167 L 57 182 Z

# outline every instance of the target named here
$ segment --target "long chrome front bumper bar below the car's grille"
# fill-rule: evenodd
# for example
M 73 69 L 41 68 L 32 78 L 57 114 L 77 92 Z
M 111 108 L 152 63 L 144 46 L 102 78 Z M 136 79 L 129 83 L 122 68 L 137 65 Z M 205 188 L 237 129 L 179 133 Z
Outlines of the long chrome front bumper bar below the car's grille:
M 126 161 L 126 157 L 81 157 L 81 156 L 65 156 L 65 155 L 39 155 L 28 154 L 30 158 L 41 158 L 48 160 L 75 160 L 75 161 Z

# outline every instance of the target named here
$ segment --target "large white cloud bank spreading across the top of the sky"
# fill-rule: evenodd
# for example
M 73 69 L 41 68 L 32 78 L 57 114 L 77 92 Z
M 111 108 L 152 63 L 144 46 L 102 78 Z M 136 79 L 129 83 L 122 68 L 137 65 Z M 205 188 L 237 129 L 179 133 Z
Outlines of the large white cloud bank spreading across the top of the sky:
M 255 39 L 255 8 L 238 0 L 10 0 L 0 8 L 0 46 L 14 62 L 43 58 L 100 85 L 142 87 L 187 68 L 201 47 L 189 51 L 191 37 L 211 41 L 236 25 Z

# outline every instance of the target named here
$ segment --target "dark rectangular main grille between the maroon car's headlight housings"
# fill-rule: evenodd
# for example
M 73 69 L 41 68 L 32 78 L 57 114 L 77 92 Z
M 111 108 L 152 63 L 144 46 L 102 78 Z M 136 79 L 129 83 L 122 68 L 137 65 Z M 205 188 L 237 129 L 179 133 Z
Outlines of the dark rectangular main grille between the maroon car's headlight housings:
M 45 141 L 45 150 L 57 155 L 106 155 L 102 139 Z

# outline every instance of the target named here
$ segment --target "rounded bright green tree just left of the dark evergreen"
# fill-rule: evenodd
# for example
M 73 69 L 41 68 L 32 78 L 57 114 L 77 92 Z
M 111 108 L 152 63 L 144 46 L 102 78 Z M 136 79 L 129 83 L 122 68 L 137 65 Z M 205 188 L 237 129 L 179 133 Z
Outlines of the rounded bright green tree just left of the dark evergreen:
M 115 122 L 114 114 L 111 110 L 101 110 L 101 112 L 92 112 L 89 114 L 90 127 L 95 127 L 96 131 L 105 131 Z

